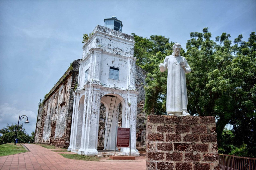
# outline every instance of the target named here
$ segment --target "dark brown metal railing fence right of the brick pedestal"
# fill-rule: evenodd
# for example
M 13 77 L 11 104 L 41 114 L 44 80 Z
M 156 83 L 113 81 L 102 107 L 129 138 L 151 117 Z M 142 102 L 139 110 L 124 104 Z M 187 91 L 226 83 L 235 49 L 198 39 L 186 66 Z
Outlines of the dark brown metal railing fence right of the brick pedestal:
M 256 170 L 256 158 L 219 154 L 219 166 L 222 170 Z

